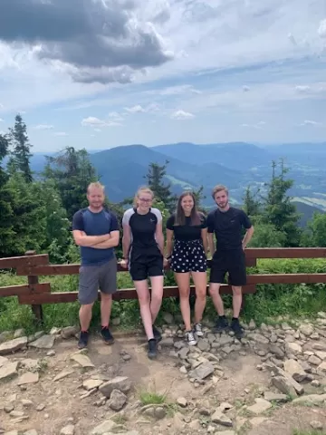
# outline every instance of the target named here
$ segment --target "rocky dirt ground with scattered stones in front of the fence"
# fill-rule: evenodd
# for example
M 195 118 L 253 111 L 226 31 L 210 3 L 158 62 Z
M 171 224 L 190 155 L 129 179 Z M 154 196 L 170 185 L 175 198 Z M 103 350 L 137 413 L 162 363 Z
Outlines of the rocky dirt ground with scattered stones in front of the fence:
M 157 361 L 141 332 L 75 327 L 0 333 L 0 433 L 5 435 L 315 435 L 326 433 L 326 314 L 312 324 L 245 325 L 189 348 L 165 314 Z

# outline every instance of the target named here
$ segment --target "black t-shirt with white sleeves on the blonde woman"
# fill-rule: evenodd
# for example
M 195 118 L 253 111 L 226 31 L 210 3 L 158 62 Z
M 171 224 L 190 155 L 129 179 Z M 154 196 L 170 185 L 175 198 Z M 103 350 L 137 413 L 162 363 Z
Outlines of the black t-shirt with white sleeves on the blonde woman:
M 123 225 L 129 224 L 132 247 L 140 249 L 158 247 L 155 232 L 161 221 L 162 215 L 158 208 L 150 208 L 146 215 L 140 215 L 136 208 L 129 208 L 122 218 Z

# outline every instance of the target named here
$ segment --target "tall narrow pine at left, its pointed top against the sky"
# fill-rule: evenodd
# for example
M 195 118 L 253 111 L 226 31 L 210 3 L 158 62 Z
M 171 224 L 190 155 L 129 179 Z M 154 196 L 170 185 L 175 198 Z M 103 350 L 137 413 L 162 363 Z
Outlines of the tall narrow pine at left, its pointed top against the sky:
M 32 170 L 30 167 L 30 152 L 32 145 L 29 143 L 27 136 L 27 127 L 20 114 L 14 119 L 14 129 L 9 129 L 11 159 L 9 160 L 9 169 L 11 173 L 16 171 L 24 175 L 26 182 L 33 181 Z

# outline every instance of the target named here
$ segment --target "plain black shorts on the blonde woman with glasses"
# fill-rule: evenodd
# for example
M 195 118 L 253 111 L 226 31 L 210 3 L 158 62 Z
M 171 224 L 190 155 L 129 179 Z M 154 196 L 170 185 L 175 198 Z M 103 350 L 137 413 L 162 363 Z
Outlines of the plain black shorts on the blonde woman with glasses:
M 150 276 L 163 276 L 163 256 L 159 249 L 139 250 L 131 248 L 129 253 L 129 273 L 133 281 L 143 281 Z

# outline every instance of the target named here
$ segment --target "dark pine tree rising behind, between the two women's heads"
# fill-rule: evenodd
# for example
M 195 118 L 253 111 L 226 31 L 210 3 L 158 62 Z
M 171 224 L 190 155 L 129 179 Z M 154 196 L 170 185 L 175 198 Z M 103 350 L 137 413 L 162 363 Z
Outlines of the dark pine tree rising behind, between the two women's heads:
M 171 184 L 164 184 L 163 179 L 167 175 L 168 160 L 162 166 L 158 163 L 149 164 L 149 172 L 145 176 L 149 188 L 153 190 L 155 197 L 162 201 L 166 208 L 171 211 L 176 205 L 176 196 L 171 192 Z

